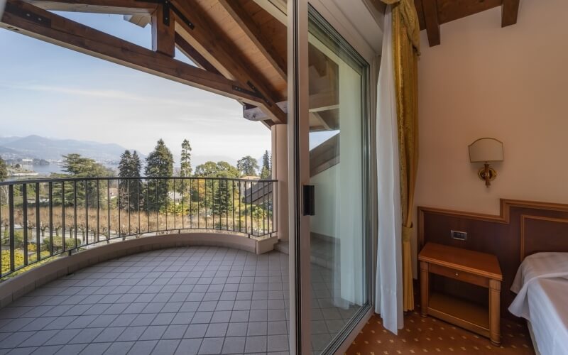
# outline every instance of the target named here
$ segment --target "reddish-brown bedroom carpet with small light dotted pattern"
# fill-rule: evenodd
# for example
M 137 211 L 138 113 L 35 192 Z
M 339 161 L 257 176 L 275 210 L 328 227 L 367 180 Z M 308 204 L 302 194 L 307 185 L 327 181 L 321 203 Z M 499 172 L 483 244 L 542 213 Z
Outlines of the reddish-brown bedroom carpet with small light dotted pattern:
M 432 317 L 420 317 L 420 310 L 415 310 L 405 315 L 405 328 L 396 336 L 373 315 L 346 354 L 535 354 L 525 325 L 501 320 L 501 335 L 501 346 L 493 346 L 484 337 Z

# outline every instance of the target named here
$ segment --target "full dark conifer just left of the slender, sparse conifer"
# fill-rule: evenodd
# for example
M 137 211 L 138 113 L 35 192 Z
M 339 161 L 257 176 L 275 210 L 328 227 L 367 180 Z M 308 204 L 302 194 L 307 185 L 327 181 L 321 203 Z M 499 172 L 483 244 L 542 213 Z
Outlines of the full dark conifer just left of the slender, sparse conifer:
M 156 144 L 154 151 L 146 158 L 146 176 L 149 178 L 170 178 L 173 175 L 173 155 L 162 139 Z M 148 208 L 159 211 L 167 207 L 168 179 L 151 179 L 148 181 Z

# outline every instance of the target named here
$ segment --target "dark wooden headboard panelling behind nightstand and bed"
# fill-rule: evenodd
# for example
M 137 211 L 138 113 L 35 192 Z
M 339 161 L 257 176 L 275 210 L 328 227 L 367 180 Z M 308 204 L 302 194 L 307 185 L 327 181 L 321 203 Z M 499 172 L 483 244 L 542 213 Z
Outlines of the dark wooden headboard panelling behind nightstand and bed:
M 450 231 L 466 231 L 467 240 L 450 237 Z M 521 261 L 539 251 L 568 251 L 568 204 L 501 200 L 498 216 L 418 207 L 418 244 L 438 244 L 492 253 L 503 271 L 501 315 L 507 311 L 515 294 L 510 285 Z M 474 301 L 485 300 L 486 291 L 456 281 L 437 278 L 432 287 Z

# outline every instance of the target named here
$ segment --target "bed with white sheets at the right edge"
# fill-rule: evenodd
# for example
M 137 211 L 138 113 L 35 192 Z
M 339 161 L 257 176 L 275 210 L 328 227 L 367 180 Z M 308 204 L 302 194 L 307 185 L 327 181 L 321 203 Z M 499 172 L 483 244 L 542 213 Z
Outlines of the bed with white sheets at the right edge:
M 527 256 L 511 290 L 509 311 L 527 320 L 537 354 L 568 354 L 568 253 Z

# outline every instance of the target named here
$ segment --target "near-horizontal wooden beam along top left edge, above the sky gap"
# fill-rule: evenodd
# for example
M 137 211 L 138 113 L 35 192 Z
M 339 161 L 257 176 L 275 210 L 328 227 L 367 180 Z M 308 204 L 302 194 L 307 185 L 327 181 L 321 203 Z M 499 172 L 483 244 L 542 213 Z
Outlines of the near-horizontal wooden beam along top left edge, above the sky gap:
M 157 4 L 132 0 L 26 0 L 29 4 L 48 11 L 107 13 L 118 15 L 150 15 Z

